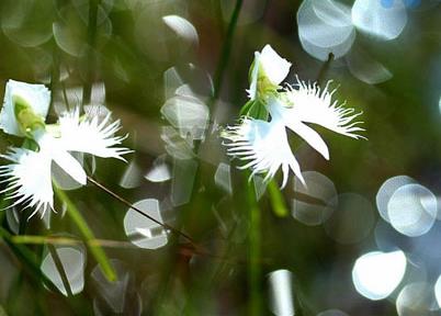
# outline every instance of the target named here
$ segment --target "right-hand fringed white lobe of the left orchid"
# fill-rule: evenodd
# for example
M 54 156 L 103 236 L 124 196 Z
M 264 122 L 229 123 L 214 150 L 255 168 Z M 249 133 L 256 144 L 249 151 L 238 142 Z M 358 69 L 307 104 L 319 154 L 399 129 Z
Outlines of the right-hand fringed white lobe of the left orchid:
M 68 151 L 80 151 L 91 154 L 103 158 L 117 158 L 132 150 L 124 147 L 115 147 L 120 145 L 126 136 L 113 135 L 120 131 L 120 121 L 110 123 L 111 113 L 109 113 L 101 122 L 97 116 L 80 120 L 78 109 L 72 112 L 66 112 L 59 117 L 60 140 Z

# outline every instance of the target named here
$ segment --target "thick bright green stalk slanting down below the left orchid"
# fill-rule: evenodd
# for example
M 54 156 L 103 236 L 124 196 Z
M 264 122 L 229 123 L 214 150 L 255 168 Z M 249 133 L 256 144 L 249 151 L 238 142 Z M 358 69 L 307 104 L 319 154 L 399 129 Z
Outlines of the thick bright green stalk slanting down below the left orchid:
M 88 246 L 92 256 L 95 258 L 97 262 L 100 264 L 105 278 L 109 281 L 116 281 L 116 273 L 110 264 L 108 256 L 101 246 L 92 241 L 95 239 L 95 237 L 93 236 L 92 230 L 89 228 L 89 225 L 86 223 L 77 206 L 75 206 L 67 194 L 63 190 L 58 189 L 57 185 L 54 185 L 54 191 L 58 199 L 66 203 L 67 214 L 77 225 L 82 237 L 84 238 L 86 245 Z

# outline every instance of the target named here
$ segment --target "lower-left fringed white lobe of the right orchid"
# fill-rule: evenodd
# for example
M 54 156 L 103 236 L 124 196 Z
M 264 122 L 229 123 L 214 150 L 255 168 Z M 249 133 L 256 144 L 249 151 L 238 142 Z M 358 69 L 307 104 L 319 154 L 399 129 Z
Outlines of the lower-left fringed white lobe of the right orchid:
M 283 172 L 282 188 L 285 187 L 290 169 L 304 182 L 301 168 L 286 138 L 286 129 L 282 121 L 244 119 L 240 125 L 228 126 L 224 138 L 229 142 L 227 154 L 246 160 L 240 169 L 250 168 L 251 177 L 267 173 L 264 180 L 272 179 L 281 167 Z

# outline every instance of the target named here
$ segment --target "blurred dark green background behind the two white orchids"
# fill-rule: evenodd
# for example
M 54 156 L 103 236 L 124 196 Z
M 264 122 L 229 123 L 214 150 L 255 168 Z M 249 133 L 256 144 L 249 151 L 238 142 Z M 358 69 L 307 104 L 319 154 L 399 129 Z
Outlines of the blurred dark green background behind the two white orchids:
M 78 228 L 64 216 L 63 201 L 56 202 L 59 212 L 50 221 L 27 221 L 20 207 L 8 208 L 0 213 L 0 315 L 441 313 L 433 287 L 441 273 L 441 4 L 405 1 L 399 36 L 383 41 L 354 29 L 349 50 L 326 61 L 299 41 L 302 2 L 0 2 L 1 82 L 50 87 L 52 122 L 66 104 L 84 111 L 105 105 L 121 119 L 120 133 L 128 133 L 125 145 L 135 151 L 127 163 L 86 158 L 89 172 L 125 200 L 144 201 L 137 204 L 143 211 L 203 248 L 167 235 L 92 183 L 77 188 L 58 173 L 118 280 L 112 283 L 102 275 Z M 323 10 L 335 8 L 333 2 L 353 4 L 323 0 Z M 339 21 L 332 14 L 331 22 Z M 387 19 L 380 21 L 384 25 L 378 27 L 389 26 Z M 290 135 L 310 185 L 306 190 L 290 179 L 282 202 L 274 202 L 259 179 L 247 182 L 218 137 L 223 126 L 237 121 L 247 101 L 253 52 L 265 44 L 293 63 L 287 82 L 296 74 L 303 80 L 332 79 L 339 86 L 335 98 L 363 111 L 369 138 L 353 140 L 319 129 L 330 148 L 326 161 Z M 16 139 L 1 136 L 4 153 Z M 378 190 L 400 174 L 412 180 L 399 178 L 395 189 L 415 181 L 427 191 L 404 194 L 398 222 L 391 217 L 387 223 L 378 208 L 389 216 L 395 208 L 388 208 L 389 200 Z M 261 193 L 257 203 L 256 195 L 248 196 L 255 187 Z M 255 208 L 258 223 L 251 225 Z M 419 229 L 418 236 L 409 236 L 406 225 Z M 21 235 L 52 238 L 14 239 Z M 364 297 L 352 280 L 355 260 L 397 248 L 407 258 L 403 280 L 385 300 Z M 375 279 L 381 271 L 370 273 Z

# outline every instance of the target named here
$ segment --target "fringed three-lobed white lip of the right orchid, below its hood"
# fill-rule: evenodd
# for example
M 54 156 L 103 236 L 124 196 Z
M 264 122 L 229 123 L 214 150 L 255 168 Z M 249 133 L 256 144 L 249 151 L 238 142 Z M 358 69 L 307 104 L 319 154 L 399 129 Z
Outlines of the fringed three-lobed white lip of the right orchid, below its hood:
M 229 156 L 248 162 L 240 167 L 250 168 L 255 173 L 267 173 L 265 181 L 272 179 L 282 168 L 285 187 L 290 169 L 305 184 L 301 168 L 287 142 L 286 127 L 306 140 L 314 149 L 329 159 L 328 146 L 320 135 L 305 123 L 321 125 L 336 133 L 362 138 L 357 132 L 364 131 L 353 122 L 361 113 L 354 109 L 344 109 L 338 101 L 332 101 L 333 91 L 326 84 L 321 91 L 316 83 L 298 81 L 281 92 L 279 98 L 271 97 L 265 103 L 271 121 L 242 119 L 237 126 L 228 126 L 222 136 L 229 140 Z

